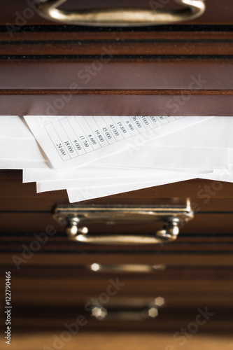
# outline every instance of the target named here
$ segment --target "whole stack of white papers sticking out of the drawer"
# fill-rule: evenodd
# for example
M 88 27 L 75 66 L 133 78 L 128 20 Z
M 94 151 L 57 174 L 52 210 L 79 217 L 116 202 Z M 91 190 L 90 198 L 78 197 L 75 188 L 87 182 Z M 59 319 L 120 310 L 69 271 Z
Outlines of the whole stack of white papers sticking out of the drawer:
M 0 168 L 70 202 L 188 179 L 233 182 L 233 118 L 3 116 Z

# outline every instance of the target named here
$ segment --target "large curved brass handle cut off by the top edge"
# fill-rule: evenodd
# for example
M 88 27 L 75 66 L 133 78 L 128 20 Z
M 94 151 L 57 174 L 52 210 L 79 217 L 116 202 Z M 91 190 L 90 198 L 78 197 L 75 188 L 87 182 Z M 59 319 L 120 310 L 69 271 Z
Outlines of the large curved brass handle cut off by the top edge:
M 108 27 L 132 27 L 145 25 L 164 25 L 192 20 L 204 13 L 204 0 L 175 0 L 184 5 L 179 10 L 153 8 L 94 8 L 74 10 L 57 9 L 66 0 L 40 0 L 38 13 L 48 20 L 69 25 L 90 25 Z M 163 6 L 162 6 L 163 7 Z

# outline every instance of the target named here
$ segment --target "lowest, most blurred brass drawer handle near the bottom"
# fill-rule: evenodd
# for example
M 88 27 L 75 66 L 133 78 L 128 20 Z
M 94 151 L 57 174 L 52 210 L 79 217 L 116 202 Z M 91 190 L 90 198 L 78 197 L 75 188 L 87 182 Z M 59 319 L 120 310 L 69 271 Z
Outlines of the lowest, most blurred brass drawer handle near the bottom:
M 155 318 L 158 316 L 158 309 L 164 305 L 163 297 L 156 297 L 153 302 L 143 305 L 142 307 L 131 306 L 130 304 L 125 307 L 121 305 L 115 305 L 113 309 L 106 309 L 102 304 L 93 304 L 91 314 L 98 320 L 109 321 L 142 321 L 146 318 Z

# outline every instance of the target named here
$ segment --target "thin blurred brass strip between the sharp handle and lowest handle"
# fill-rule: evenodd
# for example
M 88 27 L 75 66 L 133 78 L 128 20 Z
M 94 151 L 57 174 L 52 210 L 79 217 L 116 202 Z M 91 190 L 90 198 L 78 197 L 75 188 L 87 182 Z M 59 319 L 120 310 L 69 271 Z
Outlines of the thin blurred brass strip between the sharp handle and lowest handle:
M 121 264 L 121 265 L 101 265 L 94 262 L 89 268 L 94 272 L 136 272 L 136 273 L 148 273 L 155 271 L 164 271 L 166 265 L 144 265 L 144 264 Z

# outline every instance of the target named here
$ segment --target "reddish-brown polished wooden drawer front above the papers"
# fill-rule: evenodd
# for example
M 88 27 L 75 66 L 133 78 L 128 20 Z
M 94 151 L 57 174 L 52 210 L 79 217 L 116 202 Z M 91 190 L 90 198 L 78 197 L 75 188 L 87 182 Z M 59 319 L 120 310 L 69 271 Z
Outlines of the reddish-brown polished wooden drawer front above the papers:
M 112 29 L 56 25 L 36 11 L 15 26 L 29 5 L 10 0 L 0 15 L 0 115 L 231 116 L 232 6 L 207 0 L 185 24 Z

